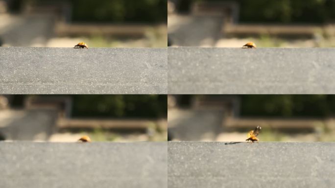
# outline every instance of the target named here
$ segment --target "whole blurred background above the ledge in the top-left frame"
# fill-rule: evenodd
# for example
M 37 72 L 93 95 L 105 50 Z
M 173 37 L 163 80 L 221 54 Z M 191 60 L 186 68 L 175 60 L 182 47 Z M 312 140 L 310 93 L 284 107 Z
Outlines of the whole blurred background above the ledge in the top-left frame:
M 166 47 L 167 0 L 0 0 L 0 46 Z

